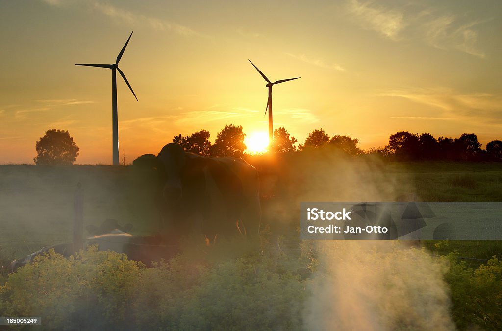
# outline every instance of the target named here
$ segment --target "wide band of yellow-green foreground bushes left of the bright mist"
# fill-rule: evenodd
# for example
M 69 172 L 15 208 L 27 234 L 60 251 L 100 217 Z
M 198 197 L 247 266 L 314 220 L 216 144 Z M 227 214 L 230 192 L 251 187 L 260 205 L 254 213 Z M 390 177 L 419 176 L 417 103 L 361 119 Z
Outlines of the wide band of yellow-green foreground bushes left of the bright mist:
M 0 287 L 0 315 L 42 316 L 47 329 L 299 329 L 305 281 L 276 262 L 234 243 L 153 268 L 95 247 L 50 251 Z

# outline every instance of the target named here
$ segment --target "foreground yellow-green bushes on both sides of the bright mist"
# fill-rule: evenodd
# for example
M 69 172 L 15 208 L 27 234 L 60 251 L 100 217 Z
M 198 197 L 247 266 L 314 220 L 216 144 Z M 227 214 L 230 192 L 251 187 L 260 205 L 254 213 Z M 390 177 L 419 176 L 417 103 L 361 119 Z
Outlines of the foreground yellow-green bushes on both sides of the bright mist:
M 260 250 L 245 246 L 193 245 L 153 268 L 96 247 L 69 259 L 50 251 L 0 286 L 0 315 L 41 316 L 45 329 L 303 329 L 307 299 L 320 299 L 306 289 L 315 283 L 311 276 L 318 274 L 319 252 L 308 241 L 290 257 L 270 244 Z M 381 253 L 390 258 L 386 251 Z M 422 255 L 401 253 L 398 260 L 383 261 L 390 266 L 420 264 L 413 256 Z M 457 253 L 438 259 L 449 262 L 444 279 L 456 326 L 502 329 L 502 262 L 494 257 L 473 270 L 458 262 Z M 426 260 L 433 258 L 427 255 Z M 383 287 L 401 284 L 406 290 L 407 281 L 414 281 L 396 283 L 399 274 L 384 276 L 389 279 L 382 279 Z M 415 289 L 429 286 L 425 281 L 417 285 Z M 429 299 L 434 304 L 435 299 Z M 399 311 L 391 316 L 405 318 Z M 325 312 L 330 317 L 329 310 Z

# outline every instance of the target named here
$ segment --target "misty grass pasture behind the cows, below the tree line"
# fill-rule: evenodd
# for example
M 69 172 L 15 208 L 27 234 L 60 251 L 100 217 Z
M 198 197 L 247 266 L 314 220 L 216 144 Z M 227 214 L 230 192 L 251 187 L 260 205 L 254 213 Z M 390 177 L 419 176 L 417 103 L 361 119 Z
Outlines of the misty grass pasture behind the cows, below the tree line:
M 264 224 L 295 236 L 299 201 L 502 201 L 502 164 L 495 162 L 387 162 L 357 158 L 291 158 L 271 163 L 251 158 L 260 170 Z M 285 169 L 284 164 L 288 164 Z M 291 166 L 289 164 L 292 164 Z M 84 222 L 108 218 L 132 223 L 133 234 L 158 231 L 155 174 L 130 167 L 0 165 L 0 247 L 20 257 L 71 241 L 77 183 L 84 190 Z M 340 188 L 344 188 L 343 190 Z M 433 242 L 424 242 L 435 249 Z M 478 264 L 502 252 L 498 241 L 451 242 Z

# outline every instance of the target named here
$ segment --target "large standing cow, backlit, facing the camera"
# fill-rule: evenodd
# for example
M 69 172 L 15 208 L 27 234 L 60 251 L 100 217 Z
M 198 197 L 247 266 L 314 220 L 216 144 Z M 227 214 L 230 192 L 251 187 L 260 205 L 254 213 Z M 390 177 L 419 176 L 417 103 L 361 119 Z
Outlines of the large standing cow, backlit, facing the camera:
M 155 166 L 163 183 L 164 233 L 178 237 L 202 231 L 210 243 L 217 236 L 239 233 L 258 238 L 260 188 L 252 165 L 235 157 L 188 153 L 170 143 L 157 155 Z

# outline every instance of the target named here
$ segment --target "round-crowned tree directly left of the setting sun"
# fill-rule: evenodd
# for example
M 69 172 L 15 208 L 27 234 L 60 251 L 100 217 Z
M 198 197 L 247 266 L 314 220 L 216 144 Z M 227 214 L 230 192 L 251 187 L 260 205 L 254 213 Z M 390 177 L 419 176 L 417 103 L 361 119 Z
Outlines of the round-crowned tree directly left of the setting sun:
M 216 136 L 214 145 L 211 148 L 211 155 L 241 157 L 244 154 L 244 149 L 246 149 L 244 137 L 245 133 L 242 132 L 242 126 L 225 125 Z

